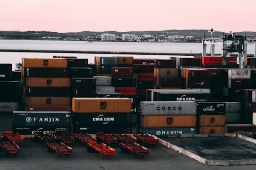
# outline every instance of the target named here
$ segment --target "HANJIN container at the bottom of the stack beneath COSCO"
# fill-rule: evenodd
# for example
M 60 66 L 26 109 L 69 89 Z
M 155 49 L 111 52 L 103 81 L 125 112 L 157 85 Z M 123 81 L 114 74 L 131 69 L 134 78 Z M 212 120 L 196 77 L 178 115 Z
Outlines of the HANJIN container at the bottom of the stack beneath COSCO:
M 141 128 L 140 133 L 148 133 L 155 135 L 157 137 L 167 137 L 167 136 L 179 136 L 180 134 L 195 134 L 197 132 L 196 127 L 187 128 Z

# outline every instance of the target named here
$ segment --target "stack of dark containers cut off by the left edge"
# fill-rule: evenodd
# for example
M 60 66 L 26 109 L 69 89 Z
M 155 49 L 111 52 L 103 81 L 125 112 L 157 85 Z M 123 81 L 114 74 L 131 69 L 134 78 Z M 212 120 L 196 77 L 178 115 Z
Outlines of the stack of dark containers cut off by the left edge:
M 0 64 L 0 131 L 12 129 L 12 112 L 19 110 L 19 82 L 13 80 L 12 64 Z

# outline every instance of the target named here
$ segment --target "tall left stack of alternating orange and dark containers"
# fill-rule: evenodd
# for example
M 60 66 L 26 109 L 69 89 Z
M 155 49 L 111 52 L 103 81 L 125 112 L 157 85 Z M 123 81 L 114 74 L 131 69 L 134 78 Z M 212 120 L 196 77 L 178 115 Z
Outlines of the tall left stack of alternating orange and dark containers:
M 67 59 L 23 58 L 23 104 L 27 111 L 70 111 Z

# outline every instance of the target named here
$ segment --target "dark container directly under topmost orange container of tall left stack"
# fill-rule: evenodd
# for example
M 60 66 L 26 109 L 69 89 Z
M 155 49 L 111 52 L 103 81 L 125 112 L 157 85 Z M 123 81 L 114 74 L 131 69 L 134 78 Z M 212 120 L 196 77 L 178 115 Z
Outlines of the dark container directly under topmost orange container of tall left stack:
M 26 68 L 22 67 L 23 77 L 69 77 L 68 68 Z

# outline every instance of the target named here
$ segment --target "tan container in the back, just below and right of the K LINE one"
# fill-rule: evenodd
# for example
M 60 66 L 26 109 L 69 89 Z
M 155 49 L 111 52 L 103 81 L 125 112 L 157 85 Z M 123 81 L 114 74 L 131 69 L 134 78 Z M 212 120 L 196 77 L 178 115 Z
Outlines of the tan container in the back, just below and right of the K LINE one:
M 178 68 L 154 68 L 154 77 L 179 77 Z

